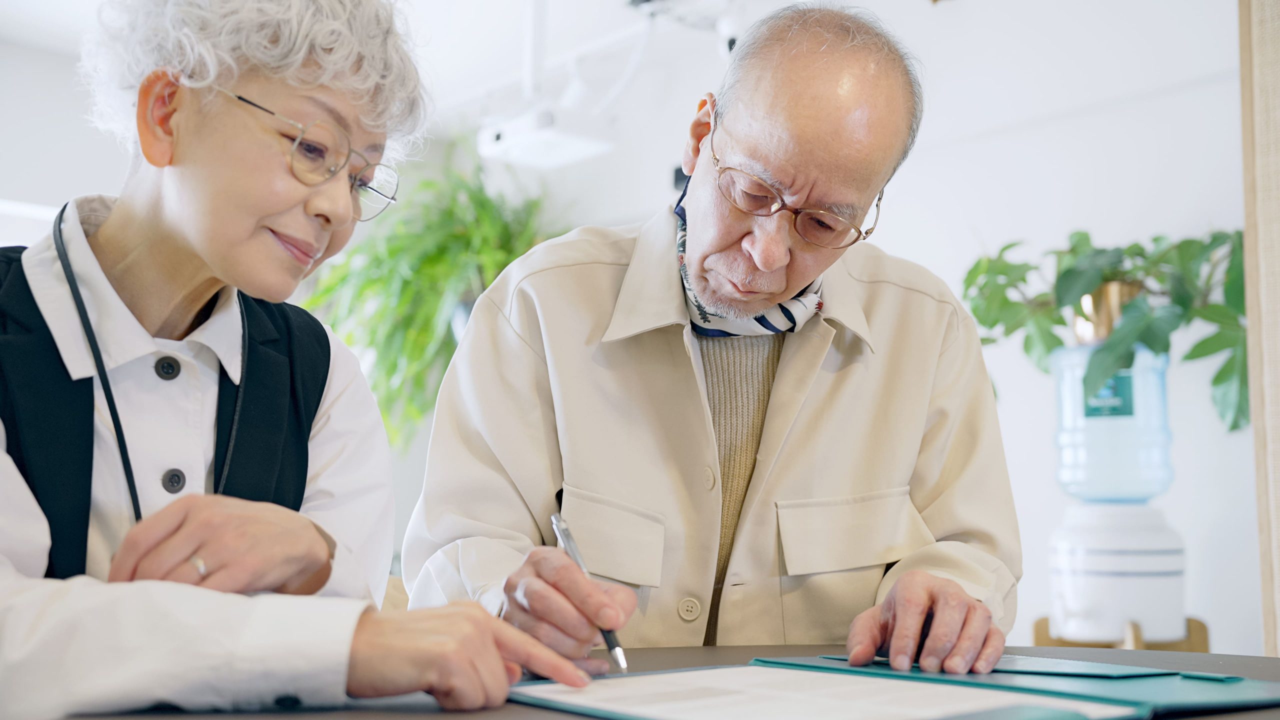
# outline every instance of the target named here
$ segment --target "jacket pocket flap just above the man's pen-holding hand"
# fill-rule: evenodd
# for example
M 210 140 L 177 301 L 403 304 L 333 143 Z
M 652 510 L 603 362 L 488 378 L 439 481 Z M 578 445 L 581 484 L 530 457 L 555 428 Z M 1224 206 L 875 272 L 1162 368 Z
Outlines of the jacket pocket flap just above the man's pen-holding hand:
M 662 515 L 570 486 L 561 514 L 593 575 L 653 588 L 662 583 Z

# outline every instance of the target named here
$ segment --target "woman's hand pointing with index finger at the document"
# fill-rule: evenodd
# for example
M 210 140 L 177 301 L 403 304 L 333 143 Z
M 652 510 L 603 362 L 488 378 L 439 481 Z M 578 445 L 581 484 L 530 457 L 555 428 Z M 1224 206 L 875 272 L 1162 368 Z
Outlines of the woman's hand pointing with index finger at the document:
M 590 682 L 572 662 L 474 602 L 369 611 L 351 641 L 347 694 L 425 691 L 445 710 L 497 707 L 521 667 L 575 688 Z

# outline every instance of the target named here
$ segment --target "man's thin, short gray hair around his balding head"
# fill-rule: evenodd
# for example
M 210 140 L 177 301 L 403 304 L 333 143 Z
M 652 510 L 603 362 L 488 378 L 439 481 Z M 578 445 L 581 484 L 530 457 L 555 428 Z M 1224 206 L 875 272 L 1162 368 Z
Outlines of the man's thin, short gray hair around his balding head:
M 819 51 L 859 49 L 872 53 L 877 59 L 887 58 L 899 67 L 911 95 L 911 127 L 906 149 L 897 160 L 897 165 L 901 165 L 915 145 L 920 117 L 924 114 L 919 63 L 884 29 L 874 14 L 858 8 L 796 3 L 756 20 L 730 53 L 728 69 L 716 94 L 716 120 L 723 119 L 736 100 L 740 86 L 756 70 L 755 65 L 764 55 L 787 46 L 808 47 L 808 41 L 814 37 L 822 41 Z

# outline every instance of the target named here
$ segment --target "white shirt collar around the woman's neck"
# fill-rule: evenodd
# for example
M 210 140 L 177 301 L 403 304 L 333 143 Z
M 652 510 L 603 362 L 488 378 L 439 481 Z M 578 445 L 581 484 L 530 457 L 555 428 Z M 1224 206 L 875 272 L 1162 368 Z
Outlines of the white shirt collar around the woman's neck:
M 161 351 L 156 338 L 151 337 L 116 295 L 88 245 L 88 236 L 102 224 L 114 206 L 115 199 L 111 196 L 83 196 L 72 200 L 63 217 L 63 242 L 108 370 Z M 54 336 L 67 372 L 76 380 L 95 375 L 93 355 L 81 328 L 70 286 L 58 260 L 52 233 L 22 254 L 22 265 L 31 295 Z M 234 288 L 223 288 L 212 314 L 186 338 L 186 342 L 209 347 L 236 383 L 239 383 L 242 340 L 238 304 Z

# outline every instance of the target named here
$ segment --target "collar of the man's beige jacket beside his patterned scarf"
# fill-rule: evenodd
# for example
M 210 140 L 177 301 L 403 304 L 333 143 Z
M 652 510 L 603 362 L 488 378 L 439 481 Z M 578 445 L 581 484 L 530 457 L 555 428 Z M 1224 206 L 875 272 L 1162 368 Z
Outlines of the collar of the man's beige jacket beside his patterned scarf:
M 874 352 L 858 281 L 846 265 L 855 256 L 855 249 L 850 249 L 823 275 L 822 310 L 818 315 L 852 332 Z M 613 318 L 600 342 L 687 324 L 685 288 L 680 283 L 680 265 L 676 260 L 676 214 L 673 205 L 668 205 L 640 227 L 631 264 L 622 278 L 622 288 L 613 307 Z

